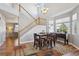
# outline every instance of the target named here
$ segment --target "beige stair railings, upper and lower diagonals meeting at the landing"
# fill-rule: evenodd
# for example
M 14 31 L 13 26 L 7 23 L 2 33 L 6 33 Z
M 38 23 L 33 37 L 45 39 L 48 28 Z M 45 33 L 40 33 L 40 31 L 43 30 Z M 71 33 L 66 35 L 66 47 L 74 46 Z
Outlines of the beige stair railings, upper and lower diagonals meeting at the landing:
M 31 30 L 35 26 L 46 24 L 45 19 L 40 18 L 40 17 L 35 19 L 23 6 L 20 5 L 20 8 L 22 8 L 26 13 L 28 13 L 28 15 L 33 19 L 31 23 L 29 23 L 28 25 L 26 25 L 23 29 L 19 31 L 20 36 L 23 36 L 25 33 L 27 33 L 29 30 Z

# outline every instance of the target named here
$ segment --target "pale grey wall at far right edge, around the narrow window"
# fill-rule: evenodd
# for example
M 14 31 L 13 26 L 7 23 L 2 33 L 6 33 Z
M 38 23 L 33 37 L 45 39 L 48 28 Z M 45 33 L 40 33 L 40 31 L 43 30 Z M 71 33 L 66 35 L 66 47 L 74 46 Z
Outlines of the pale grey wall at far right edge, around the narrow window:
M 73 11 L 72 14 L 77 13 L 77 22 L 76 22 L 76 30 L 77 33 L 72 34 L 71 39 L 72 39 L 72 44 L 77 46 L 79 48 L 79 6 L 77 6 Z

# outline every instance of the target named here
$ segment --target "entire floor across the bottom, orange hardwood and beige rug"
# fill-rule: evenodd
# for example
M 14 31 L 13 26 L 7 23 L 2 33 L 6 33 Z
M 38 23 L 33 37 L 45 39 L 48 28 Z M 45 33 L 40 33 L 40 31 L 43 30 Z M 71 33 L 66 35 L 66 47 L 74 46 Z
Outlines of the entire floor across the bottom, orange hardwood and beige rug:
M 10 41 L 10 39 L 8 39 Z M 16 49 L 16 53 L 15 53 L 15 50 L 12 49 L 12 46 L 13 44 L 11 43 L 12 41 L 10 41 L 10 45 L 7 46 L 7 49 L 5 49 L 4 52 L 0 52 L 0 55 L 2 55 L 4 53 L 4 55 L 9 55 L 9 56 L 67 56 L 67 55 L 72 55 L 72 56 L 79 56 L 79 50 L 76 51 L 76 48 L 73 47 L 72 45 L 63 45 L 61 42 L 59 43 L 56 43 L 56 46 L 53 47 L 53 48 L 43 48 L 42 50 L 39 50 L 39 49 L 35 49 L 33 47 L 33 42 L 30 42 L 30 43 L 25 43 L 25 44 L 22 44 L 22 48 L 23 50 L 20 48 L 17 48 Z M 9 42 L 8 42 L 9 44 Z M 20 53 L 19 54 L 19 50 L 20 50 Z M 75 52 L 73 52 L 75 51 Z M 73 53 L 71 53 L 73 52 Z M 65 54 L 65 55 L 64 55 Z

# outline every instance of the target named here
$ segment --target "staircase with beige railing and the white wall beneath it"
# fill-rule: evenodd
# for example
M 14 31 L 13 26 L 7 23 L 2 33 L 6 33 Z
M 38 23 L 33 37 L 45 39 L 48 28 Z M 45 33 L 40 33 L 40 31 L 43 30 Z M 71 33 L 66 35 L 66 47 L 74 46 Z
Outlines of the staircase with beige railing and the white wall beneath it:
M 28 13 L 28 15 L 33 19 L 31 23 L 26 25 L 24 28 L 22 28 L 19 31 L 20 34 L 20 43 L 23 42 L 29 42 L 33 41 L 33 34 L 36 32 L 41 32 L 45 28 L 46 21 L 43 18 L 38 17 L 37 19 L 34 18 L 23 6 L 20 5 L 20 7 Z M 27 22 L 28 23 L 28 22 Z M 31 38 L 30 38 L 31 37 Z

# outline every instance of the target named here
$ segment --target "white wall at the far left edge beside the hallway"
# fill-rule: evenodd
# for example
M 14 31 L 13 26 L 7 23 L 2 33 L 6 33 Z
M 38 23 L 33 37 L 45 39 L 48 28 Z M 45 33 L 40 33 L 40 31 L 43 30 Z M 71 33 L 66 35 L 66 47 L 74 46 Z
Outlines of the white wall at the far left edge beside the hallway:
M 6 38 L 6 23 L 3 15 L 0 14 L 0 45 L 2 45 Z

